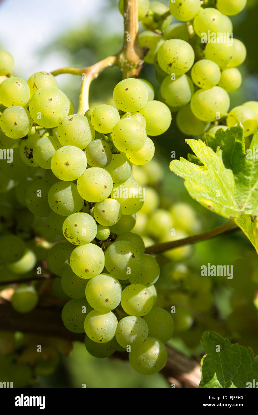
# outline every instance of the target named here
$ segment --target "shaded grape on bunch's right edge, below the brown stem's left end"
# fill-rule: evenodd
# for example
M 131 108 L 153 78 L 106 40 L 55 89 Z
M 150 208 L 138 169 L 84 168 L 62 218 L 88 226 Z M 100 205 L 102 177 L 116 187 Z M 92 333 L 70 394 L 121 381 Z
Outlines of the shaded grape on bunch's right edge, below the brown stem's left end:
M 140 272 L 136 276 L 129 278 L 129 281 L 131 284 L 142 284 L 148 287 L 158 281 L 159 273 L 159 264 L 154 256 L 143 254 Z

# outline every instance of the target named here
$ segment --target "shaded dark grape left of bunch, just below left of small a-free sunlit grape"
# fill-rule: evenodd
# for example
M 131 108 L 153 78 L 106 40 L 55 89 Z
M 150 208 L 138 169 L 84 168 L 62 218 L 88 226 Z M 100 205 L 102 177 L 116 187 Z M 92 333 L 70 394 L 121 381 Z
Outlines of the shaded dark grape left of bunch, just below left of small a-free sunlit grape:
M 68 242 L 58 242 L 49 249 L 46 260 L 51 272 L 61 277 L 70 268 L 69 259 L 74 247 Z

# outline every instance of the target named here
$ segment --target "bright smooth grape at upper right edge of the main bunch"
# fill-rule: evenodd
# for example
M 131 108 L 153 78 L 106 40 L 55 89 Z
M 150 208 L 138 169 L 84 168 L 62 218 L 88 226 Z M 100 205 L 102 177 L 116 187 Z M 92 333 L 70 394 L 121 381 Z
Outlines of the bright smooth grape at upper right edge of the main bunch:
M 171 124 L 171 112 L 169 108 L 160 101 L 149 101 L 140 110 L 146 120 L 146 132 L 151 136 L 163 134 Z

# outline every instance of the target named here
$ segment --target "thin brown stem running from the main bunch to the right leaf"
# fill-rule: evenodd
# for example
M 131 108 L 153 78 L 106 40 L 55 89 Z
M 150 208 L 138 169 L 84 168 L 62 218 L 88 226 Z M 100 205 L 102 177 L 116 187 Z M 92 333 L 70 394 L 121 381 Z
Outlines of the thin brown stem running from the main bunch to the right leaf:
M 231 229 L 234 225 L 236 225 L 234 219 L 231 219 L 223 225 L 220 225 L 214 229 L 211 229 L 210 231 L 199 235 L 190 236 L 184 239 L 178 239 L 177 241 L 164 242 L 163 244 L 152 245 L 151 247 L 145 249 L 145 254 L 159 254 L 160 252 L 167 251 L 168 249 L 183 247 L 184 245 L 205 241 L 221 234 L 227 235 L 240 231 L 239 227 Z

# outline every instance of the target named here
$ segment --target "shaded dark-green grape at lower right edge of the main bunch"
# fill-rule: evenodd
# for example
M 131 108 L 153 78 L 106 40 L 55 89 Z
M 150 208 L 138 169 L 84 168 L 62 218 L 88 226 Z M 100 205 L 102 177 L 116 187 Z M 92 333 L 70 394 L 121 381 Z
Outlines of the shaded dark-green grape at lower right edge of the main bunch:
M 171 339 L 174 332 L 174 321 L 166 310 L 163 308 L 152 308 L 152 310 L 144 317 L 149 327 L 149 337 L 167 343 Z

